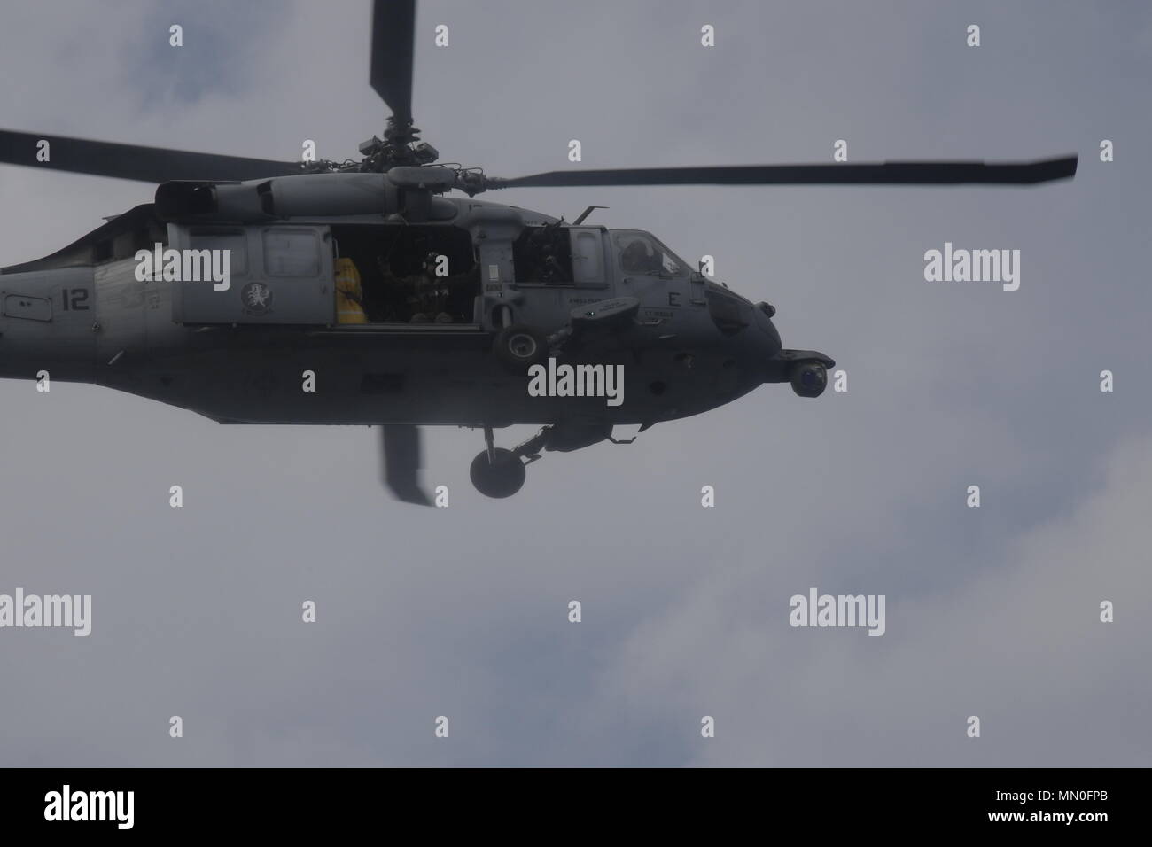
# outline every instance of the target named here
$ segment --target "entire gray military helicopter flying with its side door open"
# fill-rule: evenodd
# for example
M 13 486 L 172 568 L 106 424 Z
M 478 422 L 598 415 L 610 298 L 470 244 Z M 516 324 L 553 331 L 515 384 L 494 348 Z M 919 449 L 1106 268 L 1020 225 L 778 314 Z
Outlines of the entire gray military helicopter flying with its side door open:
M 159 183 L 153 203 L 51 256 L 0 269 L 0 377 L 94 383 L 228 424 L 380 425 L 385 482 L 423 505 L 418 426 L 483 428 L 471 479 L 502 498 L 521 489 L 541 451 L 626 443 L 614 426 L 643 432 L 764 383 L 819 396 L 834 362 L 786 349 L 773 307 L 707 279 L 650 233 L 588 224 L 594 207 L 569 224 L 477 195 L 1033 184 L 1076 172 L 1076 156 L 516 179 L 437 165 L 412 122 L 415 20 L 415 0 L 376 0 L 370 82 L 392 115 L 359 160 L 283 162 L 0 131 L 0 162 Z M 205 272 L 218 258 L 227 270 L 219 279 Z M 532 392 L 533 379 L 547 391 Z M 495 447 L 493 430 L 520 423 L 543 429 Z

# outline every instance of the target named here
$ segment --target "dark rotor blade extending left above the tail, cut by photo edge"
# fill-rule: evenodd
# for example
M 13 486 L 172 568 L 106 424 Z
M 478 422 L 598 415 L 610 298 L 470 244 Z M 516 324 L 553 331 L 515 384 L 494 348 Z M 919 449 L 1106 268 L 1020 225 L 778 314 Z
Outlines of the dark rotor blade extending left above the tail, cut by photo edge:
M 43 151 L 40 141 L 48 143 Z M 46 156 L 45 161 L 39 160 L 41 156 Z M 0 162 L 144 182 L 258 180 L 301 172 L 301 165 L 291 161 L 192 153 L 6 129 L 0 129 Z

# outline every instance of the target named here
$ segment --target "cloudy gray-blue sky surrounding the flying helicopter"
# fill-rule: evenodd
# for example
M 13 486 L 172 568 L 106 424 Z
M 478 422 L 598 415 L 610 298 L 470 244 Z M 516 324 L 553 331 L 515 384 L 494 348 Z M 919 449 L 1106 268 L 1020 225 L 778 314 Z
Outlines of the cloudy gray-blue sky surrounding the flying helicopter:
M 3 6 L 7 129 L 280 159 L 382 129 L 367 2 Z M 417 29 L 424 137 L 494 175 L 564 167 L 571 138 L 585 167 L 824 161 L 842 138 L 855 161 L 1076 151 L 1079 173 L 494 197 L 606 205 L 715 256 L 849 387 L 551 454 L 507 501 L 468 481 L 479 432 L 427 432 L 450 506 L 419 509 L 380 487 L 366 428 L 0 384 L 0 593 L 93 597 L 88 638 L 0 630 L 0 764 L 1150 764 L 1152 8 L 441 0 Z M 151 192 L 0 167 L 0 263 Z M 945 242 L 1021 250 L 1020 290 L 926 282 Z M 885 595 L 886 634 L 790 627 L 810 588 Z

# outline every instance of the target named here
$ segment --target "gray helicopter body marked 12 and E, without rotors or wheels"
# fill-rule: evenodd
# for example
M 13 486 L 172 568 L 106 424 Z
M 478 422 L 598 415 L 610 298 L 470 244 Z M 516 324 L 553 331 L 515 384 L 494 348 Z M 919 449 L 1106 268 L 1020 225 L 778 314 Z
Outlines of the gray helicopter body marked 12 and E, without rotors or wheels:
M 221 423 L 465 426 L 651 425 L 787 379 L 779 368 L 772 376 L 781 343 L 771 308 L 705 279 L 646 233 L 461 198 L 389 214 L 385 191 L 371 190 L 381 181 L 229 183 L 213 188 L 211 209 L 190 199 L 189 183 L 161 187 L 158 204 L 3 269 L 0 376 L 94 383 Z M 635 243 L 649 254 L 629 265 L 623 251 Z M 165 274 L 152 260 L 161 248 L 226 250 L 230 279 Z M 445 267 L 420 270 L 425 252 Z M 341 260 L 359 277 L 354 323 L 338 305 Z M 409 317 L 425 282 L 450 320 Z M 570 332 L 574 312 L 613 298 L 634 303 L 627 319 Z M 616 369 L 621 402 L 532 395 L 526 373 L 492 355 L 509 325 L 547 336 L 553 365 Z

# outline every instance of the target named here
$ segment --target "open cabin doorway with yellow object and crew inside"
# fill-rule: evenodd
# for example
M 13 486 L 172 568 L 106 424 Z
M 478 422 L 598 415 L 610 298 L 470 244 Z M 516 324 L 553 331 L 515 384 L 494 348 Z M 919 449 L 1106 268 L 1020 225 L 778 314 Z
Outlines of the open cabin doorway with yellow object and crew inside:
M 471 324 L 480 271 L 453 226 L 335 225 L 336 316 L 342 324 Z

